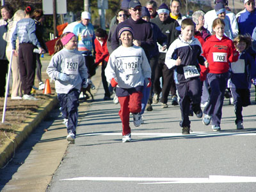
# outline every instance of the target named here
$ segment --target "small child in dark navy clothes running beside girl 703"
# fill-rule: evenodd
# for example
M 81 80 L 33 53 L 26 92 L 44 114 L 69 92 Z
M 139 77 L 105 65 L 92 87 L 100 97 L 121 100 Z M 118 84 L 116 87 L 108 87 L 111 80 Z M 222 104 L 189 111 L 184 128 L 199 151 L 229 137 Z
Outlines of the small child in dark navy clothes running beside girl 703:
M 236 50 L 239 51 L 240 56 L 237 62 L 230 64 L 230 88 L 234 98 L 237 129 L 244 128 L 242 110 L 243 107 L 251 104 L 251 80 L 254 80 L 256 77 L 255 59 L 247 52 L 251 44 L 252 40 L 250 37 L 239 35 L 234 39 L 234 45 Z

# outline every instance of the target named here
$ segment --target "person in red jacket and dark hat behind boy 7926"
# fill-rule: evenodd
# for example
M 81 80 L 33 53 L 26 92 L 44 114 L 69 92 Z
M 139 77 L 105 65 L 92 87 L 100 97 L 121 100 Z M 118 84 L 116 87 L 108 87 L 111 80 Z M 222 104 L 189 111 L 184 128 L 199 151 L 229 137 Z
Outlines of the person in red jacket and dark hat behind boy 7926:
M 95 36 L 96 36 L 94 40 L 95 51 L 96 51 L 95 64 L 99 65 L 100 63 L 102 63 L 101 78 L 102 78 L 102 84 L 105 91 L 103 100 L 110 100 L 108 82 L 105 76 L 105 68 L 108 64 L 108 58 L 109 58 L 109 52 L 107 47 L 108 34 L 106 30 L 99 28 L 96 30 Z

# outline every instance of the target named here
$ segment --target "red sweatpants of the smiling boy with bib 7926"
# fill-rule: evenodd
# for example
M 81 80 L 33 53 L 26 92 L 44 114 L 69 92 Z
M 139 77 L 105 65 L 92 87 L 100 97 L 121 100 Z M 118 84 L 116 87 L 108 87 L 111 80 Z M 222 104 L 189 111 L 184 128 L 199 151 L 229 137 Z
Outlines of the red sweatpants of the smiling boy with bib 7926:
M 142 92 L 133 92 L 129 96 L 118 97 L 120 103 L 119 116 L 122 121 L 123 135 L 128 135 L 131 133 L 131 128 L 129 126 L 130 112 L 136 114 L 141 112 L 141 99 Z

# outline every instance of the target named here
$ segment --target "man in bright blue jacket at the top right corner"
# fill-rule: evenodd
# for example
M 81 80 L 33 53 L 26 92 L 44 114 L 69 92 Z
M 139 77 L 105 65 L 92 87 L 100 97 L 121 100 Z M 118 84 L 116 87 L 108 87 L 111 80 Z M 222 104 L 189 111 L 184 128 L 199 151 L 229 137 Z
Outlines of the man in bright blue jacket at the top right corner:
M 237 18 L 239 33 L 249 33 L 252 36 L 253 29 L 256 26 L 255 0 L 244 0 L 244 13 Z

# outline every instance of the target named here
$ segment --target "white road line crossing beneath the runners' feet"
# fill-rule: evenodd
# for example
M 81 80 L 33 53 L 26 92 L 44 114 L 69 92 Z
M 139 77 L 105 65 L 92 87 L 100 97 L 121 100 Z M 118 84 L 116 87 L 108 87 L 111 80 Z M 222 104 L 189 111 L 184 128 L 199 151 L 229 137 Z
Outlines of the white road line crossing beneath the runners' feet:
M 118 135 L 121 136 L 122 133 L 86 133 L 83 136 L 96 136 L 96 135 L 109 135 L 114 136 Z M 248 132 L 205 132 L 205 131 L 193 131 L 189 135 L 182 135 L 181 133 L 134 133 L 132 132 L 132 136 L 139 136 L 139 137 L 210 137 L 210 136 L 255 136 L 256 133 L 248 133 Z

